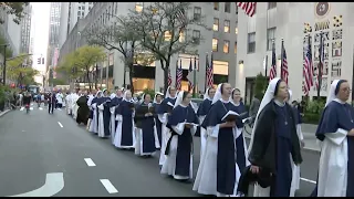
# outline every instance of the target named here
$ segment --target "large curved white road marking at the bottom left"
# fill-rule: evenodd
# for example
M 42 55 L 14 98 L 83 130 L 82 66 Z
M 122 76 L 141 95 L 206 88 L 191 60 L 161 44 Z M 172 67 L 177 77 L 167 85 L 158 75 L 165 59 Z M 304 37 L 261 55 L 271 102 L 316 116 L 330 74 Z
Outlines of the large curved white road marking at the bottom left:
M 45 182 L 42 187 L 29 192 L 14 195 L 10 197 L 51 197 L 56 195 L 63 188 L 64 188 L 63 172 L 51 172 L 51 174 L 46 174 Z

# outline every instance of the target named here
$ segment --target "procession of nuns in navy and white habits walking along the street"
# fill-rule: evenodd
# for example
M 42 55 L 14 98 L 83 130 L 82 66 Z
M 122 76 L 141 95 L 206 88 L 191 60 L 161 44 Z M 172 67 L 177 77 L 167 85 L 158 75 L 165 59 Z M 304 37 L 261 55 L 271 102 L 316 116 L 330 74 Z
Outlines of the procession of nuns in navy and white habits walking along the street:
M 346 104 L 346 81 L 333 81 L 316 137 L 321 158 L 313 197 L 354 196 L 354 109 Z M 191 94 L 169 86 L 166 94 L 131 91 L 91 98 L 88 130 L 112 145 L 152 157 L 160 150 L 160 174 L 192 182 L 194 137 L 199 130 L 200 163 L 192 190 L 217 197 L 294 197 L 302 163 L 301 116 L 292 92 L 280 78 L 270 81 L 261 101 L 250 145 L 242 133 L 249 117 L 241 91 L 222 83 L 206 90 L 198 108 Z

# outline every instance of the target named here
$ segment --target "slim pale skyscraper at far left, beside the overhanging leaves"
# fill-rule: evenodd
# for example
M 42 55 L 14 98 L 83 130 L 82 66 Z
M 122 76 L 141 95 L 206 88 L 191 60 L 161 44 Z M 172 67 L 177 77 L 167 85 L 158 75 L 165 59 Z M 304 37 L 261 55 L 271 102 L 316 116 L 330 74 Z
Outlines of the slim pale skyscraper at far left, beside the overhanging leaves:
M 31 23 L 32 23 L 32 6 L 29 4 L 23 9 L 24 17 L 21 20 L 21 46 L 20 53 L 30 53 L 31 43 Z

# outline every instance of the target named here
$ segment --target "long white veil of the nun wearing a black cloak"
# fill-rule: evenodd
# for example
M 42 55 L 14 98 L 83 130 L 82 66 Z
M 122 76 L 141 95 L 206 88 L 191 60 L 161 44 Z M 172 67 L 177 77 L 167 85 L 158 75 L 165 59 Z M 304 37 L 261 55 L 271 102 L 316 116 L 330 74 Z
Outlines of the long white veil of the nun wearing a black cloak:
M 262 102 L 261 102 L 261 104 L 259 106 L 259 109 L 257 112 L 257 116 L 256 116 L 256 119 L 254 119 L 254 126 L 253 126 L 252 134 L 251 134 L 252 135 L 251 136 L 251 142 L 250 142 L 250 146 L 248 147 L 248 153 L 250 153 L 251 149 L 252 149 L 253 137 L 254 137 L 254 132 L 256 132 L 256 127 L 257 127 L 258 116 L 263 111 L 264 106 L 274 98 L 275 87 L 277 87 L 277 84 L 278 84 L 279 81 L 281 81 L 281 80 L 279 77 L 275 77 L 275 78 L 271 80 L 269 85 L 268 85 L 268 88 L 267 88 L 267 91 L 264 93 Z

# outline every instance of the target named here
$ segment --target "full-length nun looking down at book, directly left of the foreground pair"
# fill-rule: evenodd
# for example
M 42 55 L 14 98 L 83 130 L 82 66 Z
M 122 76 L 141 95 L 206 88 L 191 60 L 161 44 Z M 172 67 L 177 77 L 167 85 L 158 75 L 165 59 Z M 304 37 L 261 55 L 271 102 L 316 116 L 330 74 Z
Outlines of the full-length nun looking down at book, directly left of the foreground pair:
M 166 160 L 162 174 L 176 180 L 192 179 L 192 135 L 197 132 L 199 119 L 191 104 L 189 92 L 179 92 L 167 126 L 171 130 L 166 145 Z

